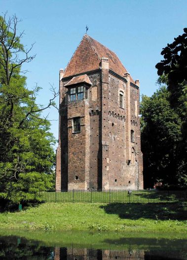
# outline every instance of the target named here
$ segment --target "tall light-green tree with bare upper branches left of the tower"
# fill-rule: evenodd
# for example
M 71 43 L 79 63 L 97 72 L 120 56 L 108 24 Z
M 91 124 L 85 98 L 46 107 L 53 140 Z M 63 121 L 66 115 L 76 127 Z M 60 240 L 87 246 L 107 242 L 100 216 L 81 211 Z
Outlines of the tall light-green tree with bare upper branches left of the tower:
M 21 199 L 35 198 L 38 190 L 51 187 L 55 143 L 49 132 L 50 122 L 42 110 L 55 105 L 58 93 L 45 107 L 36 104 L 39 87 L 30 90 L 22 64 L 30 62 L 32 47 L 21 44 L 17 36 L 19 20 L 14 15 L 6 21 L 0 16 L 0 194 L 12 198 L 12 190 Z

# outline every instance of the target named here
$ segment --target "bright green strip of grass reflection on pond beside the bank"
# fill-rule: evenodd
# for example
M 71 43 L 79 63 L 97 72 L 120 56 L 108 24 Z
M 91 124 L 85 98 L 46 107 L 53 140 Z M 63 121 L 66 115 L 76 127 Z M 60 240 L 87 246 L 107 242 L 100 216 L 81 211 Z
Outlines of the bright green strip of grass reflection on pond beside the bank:
M 187 236 L 184 233 L 141 233 L 141 232 L 85 232 L 85 231 L 43 231 L 43 230 L 0 230 L 0 237 L 6 241 L 22 238 L 28 244 L 39 242 L 43 246 L 107 249 L 111 245 L 116 249 L 124 249 L 136 245 L 139 249 L 156 249 L 170 247 L 187 247 Z M 17 242 L 17 241 L 16 241 Z

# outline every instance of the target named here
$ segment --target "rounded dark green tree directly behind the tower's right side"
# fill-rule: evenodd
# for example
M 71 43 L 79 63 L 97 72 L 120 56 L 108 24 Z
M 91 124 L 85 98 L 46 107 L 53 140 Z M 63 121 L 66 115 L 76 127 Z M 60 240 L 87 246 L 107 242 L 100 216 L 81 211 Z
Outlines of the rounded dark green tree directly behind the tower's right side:
M 153 187 L 159 180 L 168 185 L 176 183 L 181 118 L 170 107 L 168 98 L 166 87 L 161 87 L 151 97 L 142 97 L 141 141 L 147 188 Z

